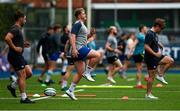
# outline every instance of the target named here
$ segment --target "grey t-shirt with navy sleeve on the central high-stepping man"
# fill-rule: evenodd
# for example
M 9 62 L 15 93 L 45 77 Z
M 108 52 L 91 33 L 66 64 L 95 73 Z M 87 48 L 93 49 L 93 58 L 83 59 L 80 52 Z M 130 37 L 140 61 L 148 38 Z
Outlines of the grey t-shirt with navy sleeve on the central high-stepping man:
M 81 47 L 87 45 L 87 28 L 81 21 L 76 21 L 72 27 L 71 34 L 76 35 L 76 48 L 79 50 Z

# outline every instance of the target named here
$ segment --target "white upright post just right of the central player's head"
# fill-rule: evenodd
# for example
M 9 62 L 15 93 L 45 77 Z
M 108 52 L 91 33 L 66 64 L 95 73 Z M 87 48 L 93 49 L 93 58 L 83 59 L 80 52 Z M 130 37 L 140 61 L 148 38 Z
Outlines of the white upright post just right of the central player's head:
M 87 0 L 87 28 L 91 28 L 91 0 Z

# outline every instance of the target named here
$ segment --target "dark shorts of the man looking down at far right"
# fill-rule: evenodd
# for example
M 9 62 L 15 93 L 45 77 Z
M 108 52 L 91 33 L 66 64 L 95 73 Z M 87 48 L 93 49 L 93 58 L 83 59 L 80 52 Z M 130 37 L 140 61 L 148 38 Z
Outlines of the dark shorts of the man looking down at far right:
M 165 56 L 162 55 L 160 58 L 153 57 L 153 58 L 146 58 L 145 63 L 147 65 L 148 70 L 154 70 L 159 65 L 159 62 L 164 58 Z

